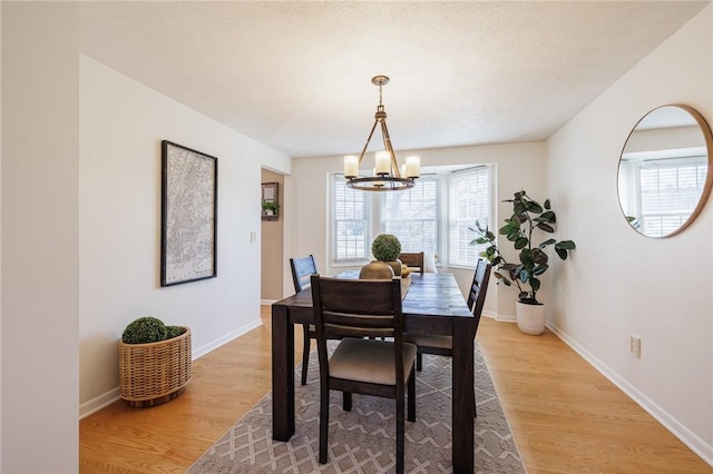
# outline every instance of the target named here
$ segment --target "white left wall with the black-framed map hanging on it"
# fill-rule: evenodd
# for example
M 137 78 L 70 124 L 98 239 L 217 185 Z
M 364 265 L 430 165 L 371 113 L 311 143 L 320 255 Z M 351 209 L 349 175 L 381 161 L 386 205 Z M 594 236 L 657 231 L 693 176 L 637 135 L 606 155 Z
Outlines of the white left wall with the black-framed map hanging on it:
M 139 316 L 192 328 L 194 357 L 260 325 L 261 167 L 290 159 L 81 56 L 79 401 L 113 401 L 117 342 Z M 218 158 L 217 278 L 162 288 L 160 141 Z M 251 244 L 251 233 L 256 239 Z

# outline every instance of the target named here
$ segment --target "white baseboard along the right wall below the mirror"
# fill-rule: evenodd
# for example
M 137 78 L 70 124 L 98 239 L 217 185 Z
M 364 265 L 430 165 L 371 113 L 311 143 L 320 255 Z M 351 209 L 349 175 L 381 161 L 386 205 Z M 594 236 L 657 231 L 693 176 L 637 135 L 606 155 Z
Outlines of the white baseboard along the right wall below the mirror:
M 609 366 L 599 361 L 594 354 L 580 346 L 576 340 L 569 337 L 564 330 L 554 324 L 548 323 L 547 327 L 555 333 L 561 340 L 565 342 L 573 350 L 584 357 L 594 368 L 596 368 L 602 375 L 608 378 L 614 385 L 616 385 L 622 392 L 628 395 L 634 402 L 636 402 L 642 408 L 644 408 L 651 416 L 656 418 L 658 423 L 664 425 L 674 436 L 676 436 L 683 444 L 688 446 L 696 455 L 703 461 L 713 466 L 713 446 L 706 444 L 695 433 L 681 424 L 676 418 L 671 416 L 668 412 L 658 406 L 654 401 L 648 398 L 643 392 L 629 384 L 619 374 L 613 371 Z

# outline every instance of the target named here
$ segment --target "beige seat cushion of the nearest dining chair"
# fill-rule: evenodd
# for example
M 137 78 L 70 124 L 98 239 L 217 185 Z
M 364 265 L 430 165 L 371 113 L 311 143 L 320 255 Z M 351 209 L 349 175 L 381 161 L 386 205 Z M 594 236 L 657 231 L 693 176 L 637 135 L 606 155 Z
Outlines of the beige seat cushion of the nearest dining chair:
M 330 376 L 380 385 L 395 385 L 393 343 L 345 338 L 330 357 Z M 416 359 L 417 347 L 403 343 L 403 379 Z

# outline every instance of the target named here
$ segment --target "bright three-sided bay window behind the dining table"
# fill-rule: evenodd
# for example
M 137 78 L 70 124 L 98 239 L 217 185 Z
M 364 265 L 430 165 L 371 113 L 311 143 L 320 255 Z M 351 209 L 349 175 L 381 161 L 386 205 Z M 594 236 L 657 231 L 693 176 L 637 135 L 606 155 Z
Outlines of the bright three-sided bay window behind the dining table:
M 393 234 L 403 251 L 430 251 L 446 266 L 473 267 L 482 250 L 469 230 L 490 223 L 492 166 L 422 175 L 412 189 L 365 192 L 332 175 L 332 260 L 371 259 L 371 241 Z

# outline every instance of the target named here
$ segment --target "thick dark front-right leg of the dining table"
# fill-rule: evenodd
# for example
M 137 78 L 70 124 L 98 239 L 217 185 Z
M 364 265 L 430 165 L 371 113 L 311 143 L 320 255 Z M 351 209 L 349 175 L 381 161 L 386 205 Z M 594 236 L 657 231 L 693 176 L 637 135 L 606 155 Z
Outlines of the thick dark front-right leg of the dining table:
M 472 318 L 453 318 L 453 472 L 473 472 Z

